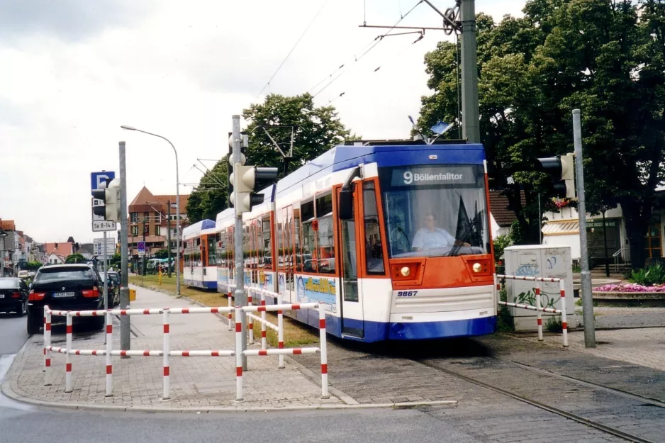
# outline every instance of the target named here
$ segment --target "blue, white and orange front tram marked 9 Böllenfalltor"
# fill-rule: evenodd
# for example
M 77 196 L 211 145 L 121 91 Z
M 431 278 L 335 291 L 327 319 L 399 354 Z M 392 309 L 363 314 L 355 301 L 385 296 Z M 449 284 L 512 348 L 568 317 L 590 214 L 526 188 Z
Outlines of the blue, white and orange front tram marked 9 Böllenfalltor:
M 281 303 L 323 303 L 330 333 L 349 340 L 494 332 L 482 145 L 345 142 L 263 194 L 243 214 L 246 285 L 278 293 Z M 217 223 L 227 260 L 218 279 L 230 281 L 233 209 Z M 285 314 L 318 325 L 315 312 Z

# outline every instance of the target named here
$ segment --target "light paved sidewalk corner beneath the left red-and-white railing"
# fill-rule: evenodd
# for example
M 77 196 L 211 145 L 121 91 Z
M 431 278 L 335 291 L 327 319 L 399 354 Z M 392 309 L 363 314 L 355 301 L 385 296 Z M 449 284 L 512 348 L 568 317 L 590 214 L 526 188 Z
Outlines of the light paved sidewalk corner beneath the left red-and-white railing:
M 191 303 L 164 293 L 133 286 L 131 308 L 181 308 Z M 221 299 L 225 302 L 225 298 Z M 225 304 L 225 303 L 224 303 Z M 55 319 L 54 319 L 55 320 Z M 162 315 L 133 315 L 132 349 L 162 349 Z M 213 314 L 171 315 L 172 350 L 235 349 L 235 332 L 227 320 Z M 113 349 L 120 349 L 118 318 L 114 320 Z M 62 344 L 60 344 L 62 343 Z M 65 327 L 52 327 L 52 344 L 64 346 Z M 74 323 L 72 347 L 104 349 L 104 334 Z M 259 349 L 259 344 L 250 349 Z M 297 359 L 298 357 L 294 357 Z M 74 391 L 65 393 L 65 355 L 51 354 L 52 386 L 43 386 L 43 335 L 30 337 L 16 356 L 3 391 L 18 400 L 57 403 L 79 408 L 127 410 L 264 410 L 343 405 L 340 398 L 320 398 L 316 375 L 286 358 L 248 357 L 245 400 L 235 400 L 235 357 L 171 357 L 171 399 L 162 400 L 162 357 L 113 357 L 113 397 L 105 397 L 105 357 L 72 356 Z M 319 378 L 320 380 L 320 378 Z M 342 396 L 342 394 L 338 393 Z

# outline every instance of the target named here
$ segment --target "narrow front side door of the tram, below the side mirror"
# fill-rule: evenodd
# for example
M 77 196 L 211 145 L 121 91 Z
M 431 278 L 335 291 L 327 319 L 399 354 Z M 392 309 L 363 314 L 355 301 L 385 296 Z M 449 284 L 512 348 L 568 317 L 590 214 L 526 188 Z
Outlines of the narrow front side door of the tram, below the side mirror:
M 341 189 L 341 188 L 340 188 Z M 337 201 L 340 201 L 340 189 L 337 189 Z M 360 243 L 359 235 L 359 190 L 360 186 L 354 186 L 353 191 L 353 216 L 350 220 L 337 219 L 340 232 L 340 318 L 342 322 L 342 335 L 352 337 L 364 337 L 364 317 L 362 309 L 362 293 L 359 291 L 358 269 L 360 268 Z

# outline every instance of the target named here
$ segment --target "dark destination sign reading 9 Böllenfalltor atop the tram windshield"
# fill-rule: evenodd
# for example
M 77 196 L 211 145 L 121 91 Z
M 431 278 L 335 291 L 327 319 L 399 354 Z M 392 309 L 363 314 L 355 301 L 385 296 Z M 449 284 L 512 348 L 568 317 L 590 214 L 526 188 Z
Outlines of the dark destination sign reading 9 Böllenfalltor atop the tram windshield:
M 476 184 L 478 168 L 473 166 L 437 165 L 393 168 L 391 186 L 428 184 Z

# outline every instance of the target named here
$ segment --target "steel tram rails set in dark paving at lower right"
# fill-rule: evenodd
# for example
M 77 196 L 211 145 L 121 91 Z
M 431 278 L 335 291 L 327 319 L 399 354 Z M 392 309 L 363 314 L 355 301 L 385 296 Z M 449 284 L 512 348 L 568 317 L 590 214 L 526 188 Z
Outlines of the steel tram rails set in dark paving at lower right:
M 528 366 L 526 364 L 519 363 L 517 361 L 506 361 L 503 359 L 498 359 L 496 357 L 480 357 L 480 359 L 486 359 L 488 361 L 498 361 L 501 364 L 513 366 L 514 368 L 520 368 L 524 371 L 530 371 L 535 374 L 539 374 L 540 376 L 545 376 L 549 378 L 554 378 L 557 381 L 564 382 L 564 383 L 572 383 L 576 386 L 581 386 L 583 388 L 591 389 L 594 391 L 600 391 L 605 394 L 609 394 L 611 396 L 617 396 L 622 398 L 623 400 L 630 400 L 632 402 L 636 402 L 637 405 L 649 405 L 651 407 L 656 407 L 656 408 L 662 408 L 665 409 L 665 403 L 661 402 L 659 400 L 655 400 L 653 398 L 647 398 L 644 396 L 639 396 L 634 393 L 629 393 L 626 391 L 621 391 L 619 389 L 615 388 L 610 388 L 609 386 L 603 386 L 598 383 L 592 383 L 589 381 L 584 381 L 579 378 L 571 377 L 571 376 L 566 376 L 563 374 L 557 374 L 552 371 L 547 371 L 544 369 L 536 368 L 534 366 Z M 496 383 L 492 383 L 491 381 L 486 381 L 482 380 L 479 376 L 471 376 L 469 374 L 463 374 L 463 371 L 456 371 L 453 369 L 450 369 L 449 366 L 452 366 L 451 363 L 447 362 L 446 360 L 439 360 L 439 359 L 419 359 L 419 358 L 411 358 L 412 361 L 418 363 L 418 364 L 423 364 L 424 366 L 427 366 L 429 368 L 435 369 L 437 371 L 442 371 L 445 374 L 448 374 L 449 376 L 453 376 L 456 378 L 460 378 L 468 383 L 472 383 L 476 386 L 481 386 L 483 388 L 489 389 L 491 391 L 494 391 L 496 393 L 500 393 L 504 396 L 513 398 L 514 400 L 518 400 L 522 403 L 527 403 L 528 405 L 532 405 L 535 408 L 540 408 L 542 410 L 546 410 L 549 413 L 554 413 L 556 415 L 559 415 L 561 417 L 565 417 L 569 420 L 572 420 L 574 422 L 581 423 L 583 425 L 587 425 L 589 427 L 593 427 L 596 430 L 599 430 L 601 432 L 605 432 L 606 434 L 611 434 L 615 437 L 619 437 L 621 439 L 625 439 L 628 442 L 635 442 L 635 443 L 656 443 L 661 440 L 654 440 L 647 438 L 643 435 L 638 435 L 635 434 L 634 432 L 627 432 L 624 430 L 619 429 L 618 427 L 607 425 L 603 422 L 600 422 L 599 420 L 593 420 L 593 418 L 585 417 L 579 413 L 574 413 L 571 412 L 570 410 L 565 410 L 561 407 L 554 406 L 552 404 L 545 403 L 544 401 L 540 400 L 535 400 L 534 398 L 531 398 L 530 396 L 524 395 L 522 393 L 519 393 L 517 389 L 510 389 L 510 388 L 505 388 L 502 386 L 497 386 Z M 478 361 L 476 359 L 476 361 Z M 490 377 L 491 378 L 491 377 Z M 663 416 L 665 417 L 665 411 L 663 413 Z M 664 435 L 665 435 L 665 427 L 664 427 Z

